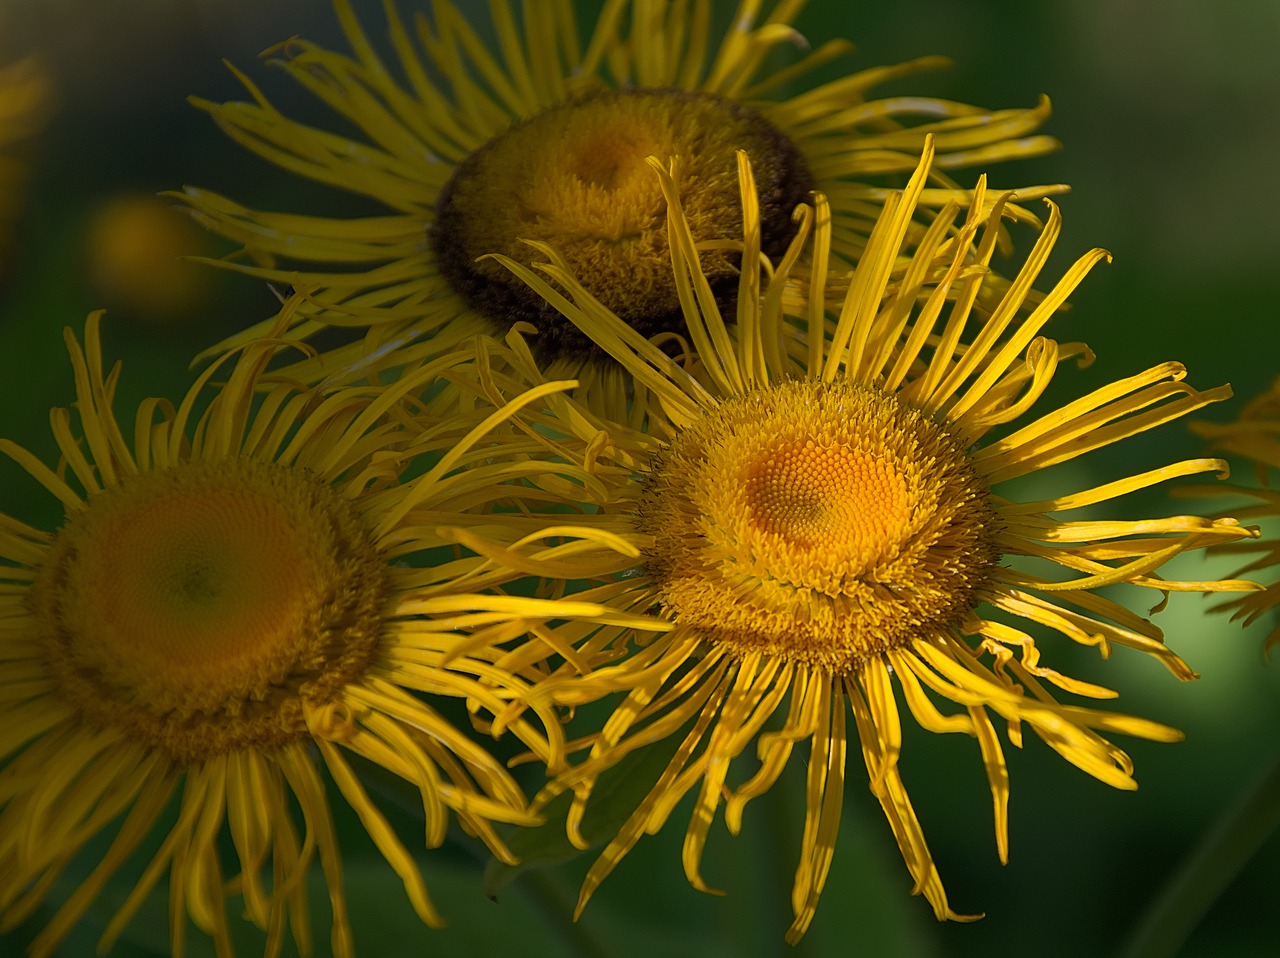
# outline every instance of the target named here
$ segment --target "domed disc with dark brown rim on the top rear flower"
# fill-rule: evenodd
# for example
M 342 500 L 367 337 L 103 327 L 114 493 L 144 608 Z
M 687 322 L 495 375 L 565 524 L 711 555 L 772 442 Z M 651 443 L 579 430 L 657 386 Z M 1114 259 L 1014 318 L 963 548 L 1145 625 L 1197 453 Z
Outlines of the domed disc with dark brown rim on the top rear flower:
M 684 332 L 667 246 L 667 205 L 646 160 L 680 158 L 681 205 L 694 237 L 741 241 L 735 152 L 751 159 L 762 248 L 778 256 L 791 213 L 813 179 L 791 141 L 735 100 L 682 90 L 598 92 L 552 106 L 471 154 L 436 202 L 431 243 L 451 286 L 506 330 L 539 329 L 541 359 L 602 357 L 576 327 L 486 254 L 541 260 L 525 241 L 553 246 L 586 289 L 645 337 Z M 701 268 L 722 298 L 736 289 L 737 256 L 708 250 Z M 731 315 L 732 310 L 723 310 Z

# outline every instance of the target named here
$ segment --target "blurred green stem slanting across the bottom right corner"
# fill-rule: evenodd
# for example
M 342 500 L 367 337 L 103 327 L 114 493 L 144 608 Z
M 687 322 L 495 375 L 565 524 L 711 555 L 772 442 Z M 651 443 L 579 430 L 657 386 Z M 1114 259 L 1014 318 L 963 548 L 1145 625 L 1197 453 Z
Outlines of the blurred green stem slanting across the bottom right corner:
M 1262 843 L 1280 827 L 1280 753 L 1201 838 L 1147 908 L 1121 958 L 1172 958 Z

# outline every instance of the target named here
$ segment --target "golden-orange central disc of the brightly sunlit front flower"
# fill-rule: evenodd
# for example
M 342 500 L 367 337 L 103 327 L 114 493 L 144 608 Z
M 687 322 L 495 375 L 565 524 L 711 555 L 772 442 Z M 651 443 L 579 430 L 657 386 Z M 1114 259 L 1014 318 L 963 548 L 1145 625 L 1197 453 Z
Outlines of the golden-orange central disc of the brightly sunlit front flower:
M 669 615 L 842 674 L 974 605 L 998 560 L 965 451 L 895 396 L 786 382 L 684 429 L 639 507 Z

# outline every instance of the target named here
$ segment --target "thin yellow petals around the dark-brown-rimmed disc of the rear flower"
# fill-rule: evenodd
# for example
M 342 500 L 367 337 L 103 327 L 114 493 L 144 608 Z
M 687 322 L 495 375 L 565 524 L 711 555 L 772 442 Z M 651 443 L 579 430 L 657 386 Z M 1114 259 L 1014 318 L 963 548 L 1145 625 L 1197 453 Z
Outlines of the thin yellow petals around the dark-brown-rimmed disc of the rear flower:
M 506 332 L 507 300 L 497 313 L 484 305 L 489 291 L 502 284 L 500 274 L 485 274 L 484 282 L 476 280 L 468 289 L 456 282 L 457 269 L 442 263 L 442 250 L 460 243 L 457 236 L 438 236 L 442 204 L 468 160 L 508 131 L 550 110 L 576 109 L 589 95 L 655 91 L 658 96 L 712 97 L 733 109 L 756 111 L 804 158 L 817 186 L 831 195 L 837 223 L 829 248 L 845 265 L 860 257 L 867 234 L 891 195 L 884 178 L 914 168 L 925 136 L 936 138 L 940 160 L 929 188 L 919 197 L 922 209 L 972 195 L 943 169 L 1034 156 L 1057 147 L 1052 137 L 1034 133 L 1048 115 L 1043 99 L 1032 109 L 995 111 L 920 96 L 869 99 L 882 82 L 946 65 L 942 58 L 861 70 L 794 96 L 781 95 L 794 81 L 814 76 L 851 49 L 845 41 L 828 41 L 806 50 L 792 26 L 800 3 L 765 9 L 742 3 L 719 36 L 713 29 L 714 5 L 707 0 L 690 5 L 611 1 L 585 36 L 580 36 L 570 4 L 539 5 L 536 15 L 530 8 L 527 22 L 522 22 L 511 4 L 499 3 L 492 9 L 497 50 L 490 50 L 449 3 L 436 4 L 430 18 L 415 17 L 412 24 L 388 5 L 393 60 L 378 54 L 346 0 L 335 6 L 349 54 L 292 40 L 268 56 L 358 134 L 285 117 L 238 70 L 251 101 L 196 104 L 269 163 L 372 200 L 370 215 L 329 218 L 257 210 L 197 187 L 175 193 L 200 222 L 239 247 L 223 265 L 234 263 L 250 275 L 305 292 L 300 318 L 306 321 L 291 336 L 310 336 L 316 323 L 367 328 L 360 343 L 330 350 L 319 362 L 292 370 L 311 382 L 376 370 L 388 352 L 403 360 L 401 347 L 424 337 L 429 341 L 419 348 L 431 352 L 448 350 L 477 330 Z M 774 55 L 788 47 L 800 51 L 799 59 L 781 70 L 772 68 Z M 547 142 L 552 151 L 547 163 L 553 166 L 561 146 L 559 137 Z M 675 152 L 698 149 L 676 145 Z M 645 155 L 636 152 L 628 161 L 640 165 Z M 731 178 L 731 156 L 726 154 L 723 161 L 721 173 Z M 756 163 L 763 168 L 764 158 L 758 155 Z M 571 164 L 567 154 L 563 164 Z M 536 224 L 545 213 L 539 204 L 552 201 L 552 195 L 545 184 L 531 188 L 536 199 L 527 204 L 512 183 L 489 184 L 483 193 L 507 196 Z M 1028 187 L 1023 199 L 1062 188 Z M 660 218 L 660 207 L 657 215 Z M 511 237 L 511 242 L 518 238 Z M 575 238 L 566 234 L 561 245 Z M 660 229 L 652 241 L 660 247 Z M 474 255 L 483 252 L 502 250 L 483 248 Z M 659 275 L 655 282 L 664 280 Z M 649 284 L 637 288 L 648 289 Z M 518 295 L 521 287 L 513 289 Z M 541 301 L 531 297 L 527 305 L 538 309 Z M 486 309 L 494 315 L 485 316 Z M 552 339 L 547 327 L 558 323 L 554 310 L 541 313 L 544 341 Z M 260 336 L 264 328 L 255 327 L 244 336 Z M 576 336 L 572 325 L 564 328 Z M 233 338 L 224 346 L 241 341 L 243 337 Z M 579 377 L 582 365 L 570 362 L 568 374 Z M 585 365 L 579 394 L 599 409 L 625 415 L 625 402 L 612 394 L 623 388 L 613 382 L 616 370 Z M 593 400 L 603 391 L 611 392 L 607 401 Z

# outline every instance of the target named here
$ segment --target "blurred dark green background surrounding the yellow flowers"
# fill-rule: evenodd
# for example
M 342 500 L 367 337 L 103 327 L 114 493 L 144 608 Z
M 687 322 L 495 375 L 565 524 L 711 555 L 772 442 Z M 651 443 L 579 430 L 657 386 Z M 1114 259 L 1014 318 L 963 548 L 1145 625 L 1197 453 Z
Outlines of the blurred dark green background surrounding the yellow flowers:
M 590 9 L 593 4 L 581 4 Z M 731 9 L 728 4 L 724 13 Z M 486 20 L 476 1 L 474 19 Z M 402 10 L 417 9 L 404 0 Z M 375 36 L 380 5 L 357 4 Z M 1051 334 L 1084 339 L 1098 352 L 1082 371 L 1065 369 L 1055 394 L 1074 396 L 1120 375 L 1176 359 L 1199 387 L 1230 382 L 1240 398 L 1277 371 L 1275 273 L 1280 254 L 1280 5 L 1253 0 L 1015 0 L 892 4 L 814 0 L 800 19 L 814 45 L 851 37 L 852 68 L 946 54 L 943 73 L 901 81 L 884 92 L 936 95 L 992 108 L 1030 106 L 1048 93 L 1047 132 L 1065 150 L 993 170 L 997 186 L 1066 182 L 1065 228 L 1053 259 L 1060 273 L 1092 246 L 1115 254 L 1089 277 L 1074 309 Z M 283 78 L 255 63 L 291 35 L 337 44 L 333 12 L 303 0 L 9 0 L 0 3 L 0 56 L 38 51 L 54 74 L 54 109 L 28 143 L 26 206 L 0 287 L 0 434 L 50 456 L 47 409 L 72 398 L 61 329 L 79 329 L 105 306 L 109 359 L 124 360 L 118 409 L 147 394 L 177 397 L 198 348 L 260 319 L 274 298 L 236 275 L 196 270 L 195 291 L 157 302 L 93 278 L 105 254 L 93 231 L 120 196 L 151 196 L 184 183 L 250 205 L 305 210 L 321 196 L 347 202 L 266 166 L 234 147 L 184 102 L 188 93 L 239 99 L 223 68 L 248 69 L 285 113 L 311 106 Z M 355 209 L 353 206 L 351 209 Z M 163 215 L 163 214 L 161 214 Z M 125 220 L 128 223 L 129 220 Z M 119 223 L 115 224 L 119 229 Z M 166 248 L 215 251 L 184 222 Z M 109 233 L 110 236 L 119 236 Z M 1021 236 L 1025 251 L 1028 236 Z M 113 241 L 113 242 L 118 242 Z M 116 268 L 122 272 L 123 266 Z M 109 270 L 110 272 L 110 270 Z M 1055 273 L 1055 275 L 1056 275 Z M 182 286 L 179 283 L 179 287 Z M 186 296 L 187 298 L 183 298 Z M 182 304 L 174 306 L 173 304 Z M 1239 405 L 1208 410 L 1225 419 Z M 1202 455 L 1181 424 L 1096 455 L 1053 478 L 1080 488 Z M 1247 470 L 1236 478 L 1249 480 Z M 0 464 L 0 510 L 36 524 L 56 521 L 50 501 L 10 464 Z M 1189 507 L 1162 496 L 1114 503 L 1138 517 Z M 1226 575 L 1224 560 L 1188 561 L 1187 578 Z M 1123 594 L 1135 608 L 1153 599 Z M 1068 674 L 1121 690 L 1123 711 L 1187 733 L 1187 742 L 1120 742 L 1142 788 L 1119 793 L 1066 765 L 1037 739 L 1009 749 L 1012 776 L 1011 861 L 996 859 L 989 797 L 977 747 L 966 739 L 910 730 L 904 776 L 952 905 L 986 912 L 972 925 L 940 925 L 910 881 L 874 800 L 852 767 L 846 816 L 831 880 L 809 935 L 788 948 L 788 890 L 800 836 L 803 762 L 748 811 L 744 834 L 717 825 L 704 875 L 724 898 L 689 889 L 680 868 L 682 818 L 645 839 L 596 893 L 582 921 L 566 916 L 588 859 L 522 876 L 497 904 L 480 893 L 480 862 L 465 841 L 425 859 L 449 929 L 429 932 L 413 918 L 398 881 L 347 830 L 356 940 L 364 954 L 411 955 L 1032 955 L 1120 953 L 1126 936 L 1197 840 L 1274 762 L 1280 747 L 1280 663 L 1261 643 L 1270 622 L 1242 633 L 1211 602 L 1175 597 L 1157 622 L 1169 643 L 1202 672 L 1179 684 L 1152 661 L 1062 648 L 1046 658 Z M 854 759 L 856 761 L 856 759 Z M 346 822 L 351 826 L 352 822 Z M 1280 941 L 1280 838 L 1272 835 L 1239 871 L 1187 939 L 1183 955 L 1274 954 Z M 64 948 L 92 953 L 97 909 Z M 317 907 L 317 952 L 325 953 Z M 164 954 L 157 900 L 116 948 L 120 955 Z M 99 925 L 100 927 L 100 925 Z M 0 939 L 18 948 L 33 929 Z M 260 950 L 246 936 L 243 953 Z M 211 953 L 195 936 L 192 954 Z

